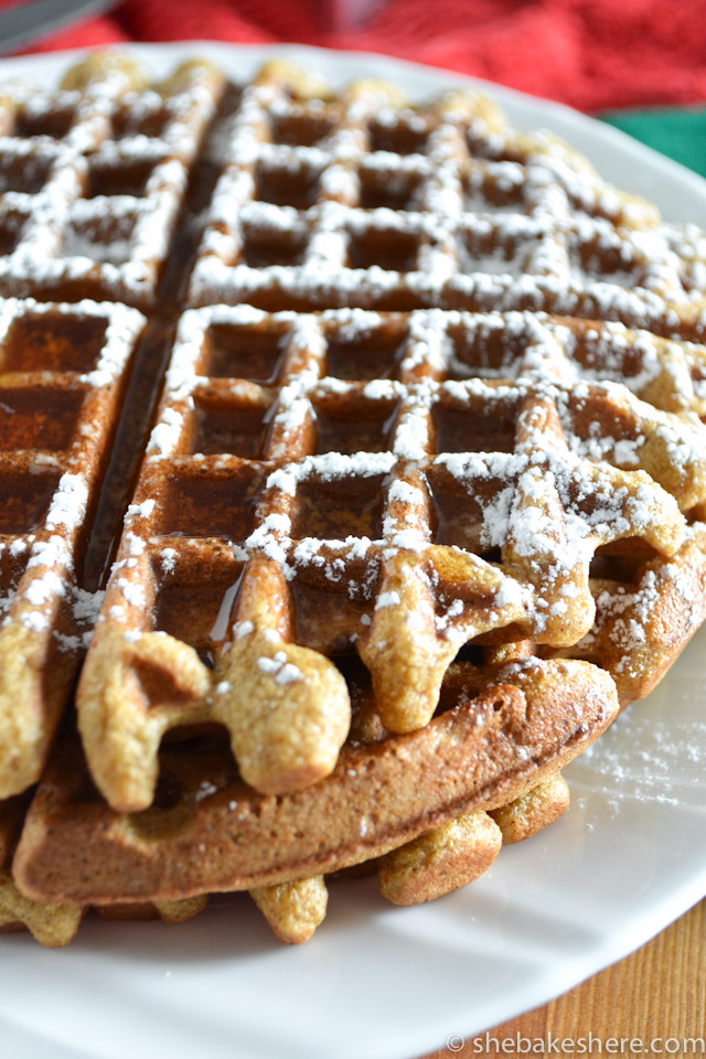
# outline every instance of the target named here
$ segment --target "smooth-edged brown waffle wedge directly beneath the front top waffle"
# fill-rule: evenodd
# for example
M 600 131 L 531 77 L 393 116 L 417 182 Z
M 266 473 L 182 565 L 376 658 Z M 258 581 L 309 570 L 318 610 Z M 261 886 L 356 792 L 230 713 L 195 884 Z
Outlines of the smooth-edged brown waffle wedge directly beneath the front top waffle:
M 173 899 L 250 889 L 359 864 L 460 814 L 505 805 L 555 774 L 612 720 L 607 674 L 535 657 L 450 667 L 424 728 L 385 732 L 364 667 L 349 667 L 351 739 L 333 772 L 292 794 L 247 785 L 213 737 L 165 744 L 154 804 L 121 814 L 66 740 L 14 862 L 47 899 Z M 83 866 L 83 867 L 79 867 Z

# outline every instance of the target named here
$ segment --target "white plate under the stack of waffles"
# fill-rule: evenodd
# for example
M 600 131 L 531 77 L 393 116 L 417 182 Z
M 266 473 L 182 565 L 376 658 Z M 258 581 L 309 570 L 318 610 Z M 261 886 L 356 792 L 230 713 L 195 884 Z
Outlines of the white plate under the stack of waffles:
M 458 74 L 377 55 L 139 45 L 156 74 L 208 55 L 244 78 L 278 51 L 341 84 L 364 74 L 421 97 Z M 7 60 L 0 78 L 55 82 L 74 53 Z M 483 85 L 521 127 L 565 136 L 670 220 L 706 224 L 706 182 L 565 107 Z M 244 895 L 179 927 L 86 921 L 65 950 L 0 939 L 8 1059 L 410 1059 L 565 992 L 706 894 L 706 631 L 657 691 L 569 769 L 569 813 L 503 849 L 478 882 L 399 909 L 374 880 L 331 887 L 312 942 L 286 949 Z M 227 907 L 222 907 L 227 906 Z

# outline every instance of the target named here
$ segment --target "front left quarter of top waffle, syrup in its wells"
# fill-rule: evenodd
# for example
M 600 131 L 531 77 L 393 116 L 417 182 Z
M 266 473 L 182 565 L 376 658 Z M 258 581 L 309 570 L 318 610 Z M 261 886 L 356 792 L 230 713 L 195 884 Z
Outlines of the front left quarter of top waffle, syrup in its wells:
M 0 302 L 0 796 L 39 779 L 90 637 L 83 564 L 143 325 L 119 304 Z

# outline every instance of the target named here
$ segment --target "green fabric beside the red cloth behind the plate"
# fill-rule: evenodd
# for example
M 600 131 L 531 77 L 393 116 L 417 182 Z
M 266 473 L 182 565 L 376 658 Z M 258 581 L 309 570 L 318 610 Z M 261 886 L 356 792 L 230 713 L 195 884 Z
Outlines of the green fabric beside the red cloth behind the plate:
M 706 176 L 706 108 L 610 110 L 598 117 Z

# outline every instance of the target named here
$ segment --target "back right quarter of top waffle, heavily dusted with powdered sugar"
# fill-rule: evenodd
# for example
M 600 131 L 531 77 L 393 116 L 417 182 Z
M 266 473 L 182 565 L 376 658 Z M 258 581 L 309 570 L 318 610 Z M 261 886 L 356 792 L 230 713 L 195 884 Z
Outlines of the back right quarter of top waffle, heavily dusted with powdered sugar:
M 268 310 L 548 310 L 704 333 L 700 234 L 657 231 L 546 133 L 474 93 L 330 98 L 267 66 L 223 133 L 190 297 Z

